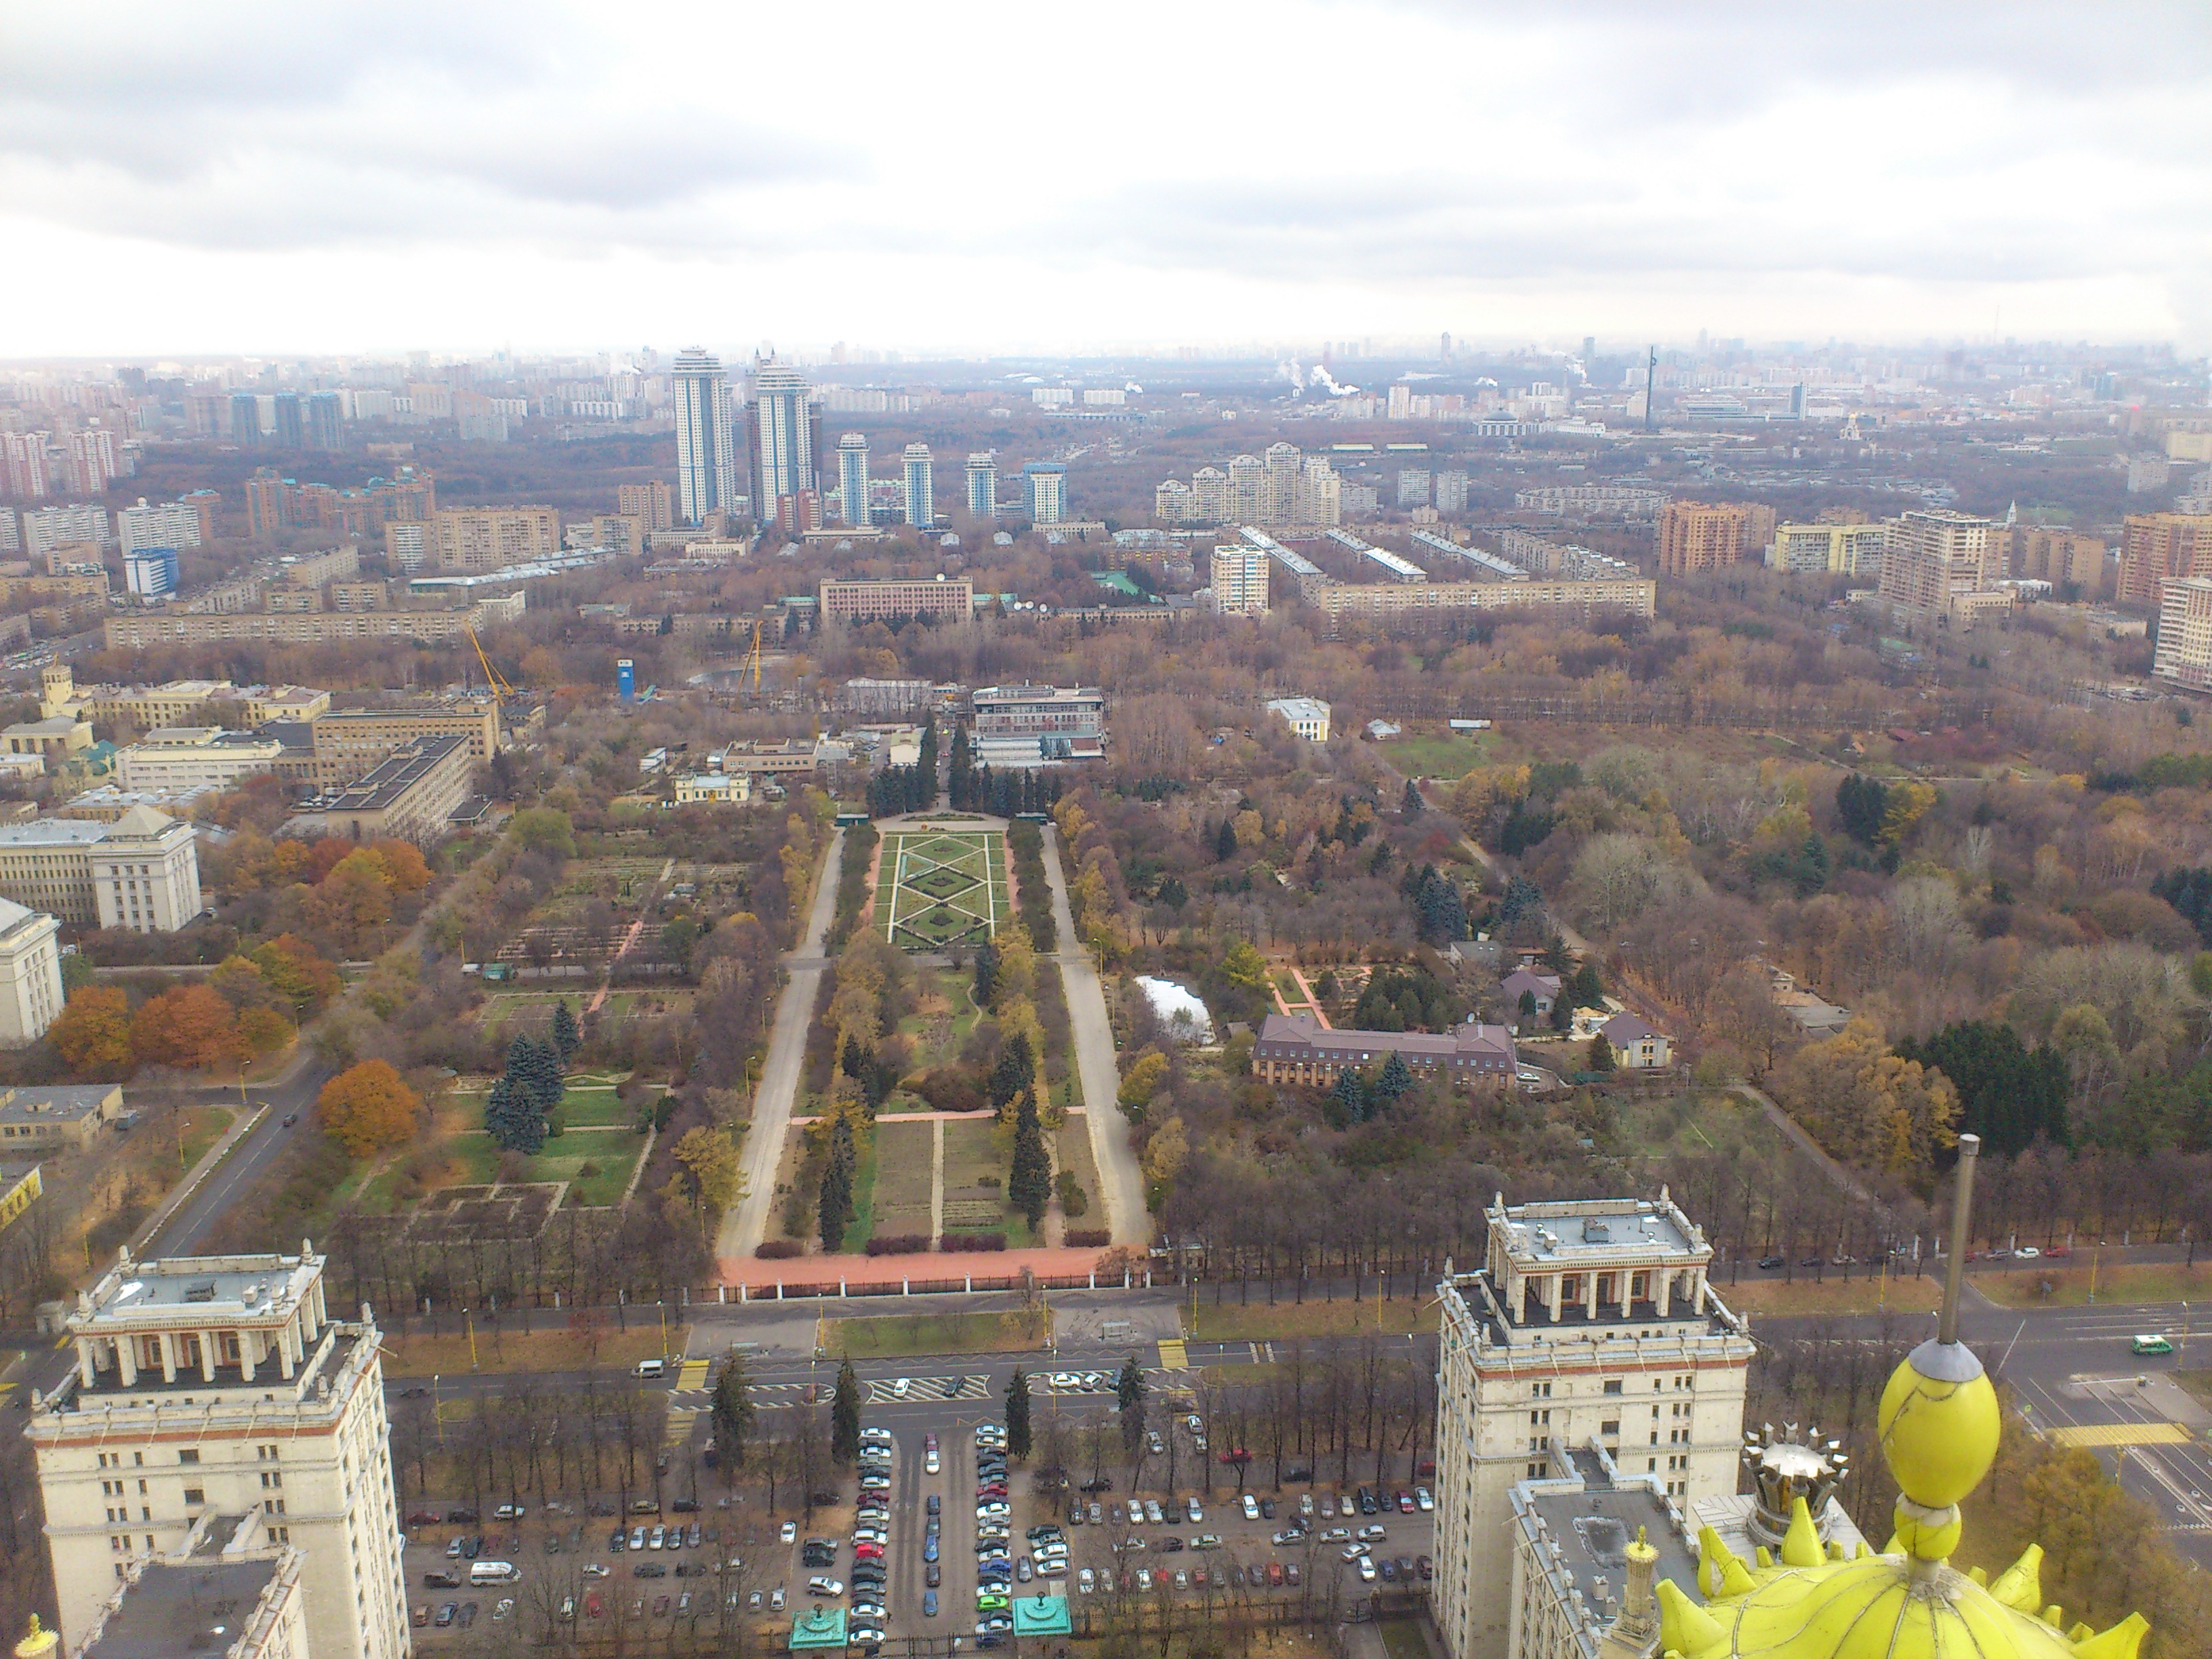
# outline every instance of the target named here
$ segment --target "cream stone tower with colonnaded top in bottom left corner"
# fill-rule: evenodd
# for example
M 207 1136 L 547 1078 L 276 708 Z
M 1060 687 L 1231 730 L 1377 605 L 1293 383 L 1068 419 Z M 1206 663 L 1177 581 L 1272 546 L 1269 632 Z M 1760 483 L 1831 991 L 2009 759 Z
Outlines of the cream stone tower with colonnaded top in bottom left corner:
M 409 1652 L 380 1332 L 325 1310 L 323 1256 L 122 1252 L 69 1314 L 77 1365 L 31 1411 L 62 1637 L 208 1515 L 301 1553 L 316 1650 Z

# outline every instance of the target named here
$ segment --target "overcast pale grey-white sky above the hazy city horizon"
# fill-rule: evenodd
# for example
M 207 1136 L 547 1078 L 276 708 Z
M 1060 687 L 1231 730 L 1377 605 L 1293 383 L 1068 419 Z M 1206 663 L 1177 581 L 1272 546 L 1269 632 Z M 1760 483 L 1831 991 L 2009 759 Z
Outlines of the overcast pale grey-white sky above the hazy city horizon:
M 0 356 L 2212 343 L 2212 7 L 0 0 Z

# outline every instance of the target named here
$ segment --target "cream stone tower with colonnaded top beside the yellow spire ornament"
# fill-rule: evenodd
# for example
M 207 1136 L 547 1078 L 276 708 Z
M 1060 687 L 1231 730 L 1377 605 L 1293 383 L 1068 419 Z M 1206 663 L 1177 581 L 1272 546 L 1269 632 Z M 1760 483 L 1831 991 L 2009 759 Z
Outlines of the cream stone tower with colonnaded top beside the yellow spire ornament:
M 1732 1498 L 1754 1343 L 1705 1283 L 1712 1245 L 1659 1199 L 1489 1210 L 1480 1272 L 1438 1287 L 1433 1613 L 1451 1659 L 1500 1659 L 1517 1484 L 1601 1447 L 1681 1511 Z

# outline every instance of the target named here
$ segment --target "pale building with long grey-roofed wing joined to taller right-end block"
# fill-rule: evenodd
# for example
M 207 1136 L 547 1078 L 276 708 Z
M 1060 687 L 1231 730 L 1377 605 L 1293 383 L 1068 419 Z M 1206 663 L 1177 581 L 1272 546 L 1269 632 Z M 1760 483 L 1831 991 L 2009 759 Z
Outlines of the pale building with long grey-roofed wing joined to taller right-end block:
M 192 825 L 153 807 L 131 807 L 115 823 L 0 825 L 0 898 L 71 927 L 173 933 L 201 909 Z

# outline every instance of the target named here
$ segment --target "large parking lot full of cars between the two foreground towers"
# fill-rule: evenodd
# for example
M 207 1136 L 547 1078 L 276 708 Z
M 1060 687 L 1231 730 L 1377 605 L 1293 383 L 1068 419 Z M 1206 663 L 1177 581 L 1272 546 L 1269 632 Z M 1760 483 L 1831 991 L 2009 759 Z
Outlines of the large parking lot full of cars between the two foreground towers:
M 1301 1478 L 1276 1491 L 1267 1460 L 1237 1460 L 1206 1440 L 1203 1425 L 1166 1409 L 1148 1413 L 1157 1427 L 1130 1460 L 1102 1380 L 1110 1389 L 1110 1376 L 1037 1378 L 1029 1464 L 1000 1458 L 1002 1413 L 991 1409 L 1000 1402 L 878 1385 L 863 1416 L 863 1460 L 834 1475 L 838 1502 L 812 1517 L 794 1482 L 781 1484 L 770 1513 L 757 1482 L 726 1495 L 719 1480 L 701 1482 L 697 1504 L 637 1498 L 633 1513 L 617 1513 L 615 1495 L 524 1504 L 504 1517 L 487 1511 L 480 1522 L 407 1506 L 416 1641 L 465 1652 L 471 1632 L 507 1621 L 533 1641 L 617 1628 L 781 1637 L 796 1613 L 827 1601 L 845 1608 L 856 1648 L 945 1635 L 989 1648 L 1022 1595 L 1066 1595 L 1082 1626 L 1128 1597 L 1312 1604 L 1332 1588 L 1349 1599 L 1425 1579 L 1433 1555 L 1425 1489 L 1367 1480 L 1363 1502 L 1354 1467 L 1287 1469 Z M 1079 1455 L 1068 1458 L 1068 1489 L 1040 1493 L 1033 1471 L 1055 1436 Z M 1133 1462 L 1139 1484 L 1128 1491 Z M 1340 1473 L 1349 1480 L 1332 1480 Z M 511 1564 L 515 1577 L 471 1584 L 478 1562 Z

